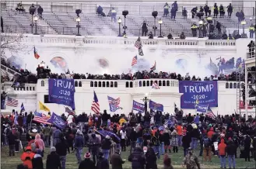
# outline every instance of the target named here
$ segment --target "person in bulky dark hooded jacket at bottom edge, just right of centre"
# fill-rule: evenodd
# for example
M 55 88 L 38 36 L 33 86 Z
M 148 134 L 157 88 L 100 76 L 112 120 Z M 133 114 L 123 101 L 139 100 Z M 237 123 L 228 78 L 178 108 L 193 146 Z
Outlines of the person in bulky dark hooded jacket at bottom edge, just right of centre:
M 128 160 L 132 162 L 132 169 L 144 169 L 146 164 L 145 155 L 140 147 L 136 147 Z

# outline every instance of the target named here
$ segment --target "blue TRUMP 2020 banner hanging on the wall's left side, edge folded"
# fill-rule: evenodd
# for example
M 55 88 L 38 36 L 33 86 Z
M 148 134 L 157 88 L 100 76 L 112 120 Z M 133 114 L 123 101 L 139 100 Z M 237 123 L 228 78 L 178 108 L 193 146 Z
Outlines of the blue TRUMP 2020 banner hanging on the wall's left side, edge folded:
M 68 105 L 75 110 L 74 79 L 49 79 L 49 102 Z

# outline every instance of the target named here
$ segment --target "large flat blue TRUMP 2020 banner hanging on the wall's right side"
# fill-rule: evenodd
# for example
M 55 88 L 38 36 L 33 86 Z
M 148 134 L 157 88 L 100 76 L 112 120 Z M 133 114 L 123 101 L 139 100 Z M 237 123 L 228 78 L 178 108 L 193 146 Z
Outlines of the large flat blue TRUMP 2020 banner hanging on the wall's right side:
M 181 109 L 195 109 L 195 104 L 218 107 L 218 81 L 179 81 Z

